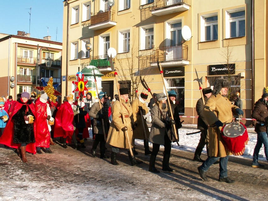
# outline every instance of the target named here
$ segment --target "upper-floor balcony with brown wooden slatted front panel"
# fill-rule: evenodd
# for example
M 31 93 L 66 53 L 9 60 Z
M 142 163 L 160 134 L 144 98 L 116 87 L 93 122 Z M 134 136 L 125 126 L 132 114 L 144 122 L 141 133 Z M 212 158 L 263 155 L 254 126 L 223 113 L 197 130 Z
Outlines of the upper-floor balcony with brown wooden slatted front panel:
M 116 25 L 114 22 L 114 10 L 108 9 L 91 15 L 89 29 L 99 30 Z

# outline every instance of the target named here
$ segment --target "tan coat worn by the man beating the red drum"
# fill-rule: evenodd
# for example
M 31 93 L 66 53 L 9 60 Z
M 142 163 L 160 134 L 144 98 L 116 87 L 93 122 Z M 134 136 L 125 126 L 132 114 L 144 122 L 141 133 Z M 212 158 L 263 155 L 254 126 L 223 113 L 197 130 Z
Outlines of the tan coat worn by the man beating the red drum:
M 209 156 L 225 157 L 230 155 L 221 137 L 222 127 L 215 126 L 215 122 L 220 120 L 224 125 L 232 122 L 233 114 L 237 114 L 236 108 L 238 107 L 221 94 L 211 95 L 205 103 L 203 114 L 209 124 Z

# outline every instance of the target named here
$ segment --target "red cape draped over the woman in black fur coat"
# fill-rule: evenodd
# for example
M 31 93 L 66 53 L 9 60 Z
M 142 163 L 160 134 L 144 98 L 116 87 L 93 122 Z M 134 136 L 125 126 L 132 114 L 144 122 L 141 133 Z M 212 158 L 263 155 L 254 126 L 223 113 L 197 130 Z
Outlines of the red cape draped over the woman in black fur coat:
M 12 148 L 19 148 L 20 144 L 15 144 L 13 143 L 13 137 L 14 137 L 14 120 L 12 119 L 13 115 L 16 114 L 19 109 L 22 107 L 23 104 L 19 102 L 15 102 L 14 105 L 12 106 L 12 112 L 11 115 L 9 116 L 8 123 L 4 129 L 3 135 L 0 137 L 0 144 L 5 144 L 8 147 Z M 29 108 L 31 109 L 32 113 L 36 117 L 36 112 L 34 108 L 34 104 L 31 103 L 28 105 Z M 36 121 L 34 121 L 34 134 L 36 133 Z M 32 154 L 36 154 L 36 147 L 35 143 L 29 143 L 26 145 L 26 151 Z

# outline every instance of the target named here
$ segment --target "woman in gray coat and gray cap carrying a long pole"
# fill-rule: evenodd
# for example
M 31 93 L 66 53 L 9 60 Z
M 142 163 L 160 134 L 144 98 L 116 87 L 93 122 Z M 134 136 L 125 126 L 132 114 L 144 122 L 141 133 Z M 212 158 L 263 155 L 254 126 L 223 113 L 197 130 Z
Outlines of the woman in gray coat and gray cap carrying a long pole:
M 156 94 L 157 104 L 151 109 L 152 126 L 150 131 L 149 141 L 153 143 L 153 150 L 150 157 L 149 171 L 159 173 L 160 171 L 155 168 L 155 159 L 159 152 L 160 145 L 164 145 L 164 157 L 162 163 L 162 170 L 172 172 L 173 170 L 169 166 L 170 151 L 171 151 L 171 135 L 170 129 L 172 124 L 175 123 L 168 116 L 168 108 L 166 104 L 166 95 L 164 93 Z M 159 105 L 159 106 L 158 106 Z M 161 116 L 160 110 L 164 114 L 166 120 L 169 123 L 165 123 L 163 116 Z

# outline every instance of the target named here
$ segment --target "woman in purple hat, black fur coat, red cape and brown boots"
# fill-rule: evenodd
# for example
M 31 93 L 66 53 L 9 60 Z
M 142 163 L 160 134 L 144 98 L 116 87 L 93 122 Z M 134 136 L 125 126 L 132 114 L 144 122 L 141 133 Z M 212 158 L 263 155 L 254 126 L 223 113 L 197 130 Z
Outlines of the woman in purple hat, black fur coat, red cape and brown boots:
M 22 161 L 27 163 L 25 152 L 36 154 L 35 132 L 36 124 L 27 124 L 28 115 L 36 116 L 34 104 L 29 100 L 30 94 L 23 92 L 21 98 L 12 107 L 7 126 L 0 137 L 0 143 L 8 147 L 17 148 Z

